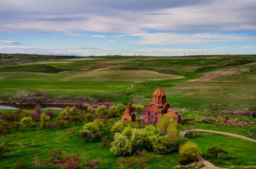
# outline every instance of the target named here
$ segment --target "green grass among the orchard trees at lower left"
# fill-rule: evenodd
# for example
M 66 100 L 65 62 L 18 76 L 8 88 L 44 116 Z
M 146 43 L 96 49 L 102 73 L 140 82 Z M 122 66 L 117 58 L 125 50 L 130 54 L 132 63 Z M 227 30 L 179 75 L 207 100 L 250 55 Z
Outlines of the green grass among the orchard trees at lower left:
M 13 113 L 15 111 L 4 110 L 3 112 Z M 30 112 L 32 112 L 32 110 L 24 110 L 23 114 Z M 59 111 L 54 110 L 53 112 L 55 116 L 59 115 Z M 117 119 L 119 118 L 109 119 L 106 128 L 112 125 Z M 52 121 L 55 121 L 55 118 L 53 118 Z M 101 158 L 102 165 L 97 166 L 97 169 L 116 169 L 118 165 L 116 160 L 119 157 L 110 152 L 110 146 L 104 149 L 104 147 L 100 146 L 100 138 L 93 142 L 85 143 L 84 140 L 78 136 L 77 132 L 81 129 L 83 123 L 88 123 L 88 121 L 80 122 L 77 125 L 69 122 L 67 126 L 62 128 L 56 126 L 53 130 L 47 129 L 45 133 L 39 127 L 36 127 L 36 131 L 34 132 L 33 129 L 28 129 L 24 126 L 19 129 L 16 140 L 12 131 L 9 132 L 6 145 L 12 149 L 12 152 L 3 155 L 0 159 L 0 168 L 10 169 L 18 160 L 25 160 L 27 163 L 31 163 L 31 168 L 35 168 L 35 165 L 32 163 L 35 154 L 39 155 L 39 161 L 47 160 L 49 159 L 48 154 L 52 149 L 60 148 L 67 152 L 66 155 L 77 155 L 80 152 L 83 161 L 84 158 Z M 102 130 L 102 136 L 111 137 L 111 135 L 106 132 L 106 128 Z M 73 129 L 75 134 L 67 135 L 67 130 L 69 129 Z M 4 143 L 4 136 L 0 135 L 0 138 L 0 144 Z M 177 166 L 176 156 L 178 154 L 176 152 L 164 155 L 159 155 L 157 152 L 149 152 L 149 155 L 150 159 L 147 161 L 148 169 L 167 169 Z M 125 158 L 129 157 L 131 157 L 131 155 L 125 156 Z

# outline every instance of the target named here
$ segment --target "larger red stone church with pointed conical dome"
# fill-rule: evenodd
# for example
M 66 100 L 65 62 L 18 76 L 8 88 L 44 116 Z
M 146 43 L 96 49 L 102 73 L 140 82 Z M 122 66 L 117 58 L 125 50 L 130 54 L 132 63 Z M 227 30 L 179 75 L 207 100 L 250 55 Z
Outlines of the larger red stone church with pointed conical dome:
M 145 108 L 144 113 L 146 123 L 159 123 L 161 115 L 173 117 L 177 123 L 181 123 L 179 113 L 166 102 L 166 93 L 160 88 L 160 86 L 152 94 L 152 101 L 148 103 L 148 107 Z

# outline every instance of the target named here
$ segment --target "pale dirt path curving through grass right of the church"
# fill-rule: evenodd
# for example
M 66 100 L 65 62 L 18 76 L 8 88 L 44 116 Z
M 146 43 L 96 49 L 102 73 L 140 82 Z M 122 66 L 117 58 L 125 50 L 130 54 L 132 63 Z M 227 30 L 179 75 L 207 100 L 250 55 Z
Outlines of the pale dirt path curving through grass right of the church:
M 249 141 L 256 142 L 256 140 L 254 140 L 252 138 L 245 137 L 245 136 L 242 136 L 242 135 L 233 134 L 233 133 L 218 132 L 218 131 L 204 130 L 204 129 L 194 129 L 194 131 L 195 132 L 212 132 L 212 133 L 218 133 L 218 134 L 222 134 L 222 135 L 230 135 L 230 136 L 233 136 L 233 137 L 242 138 L 244 140 L 249 140 Z M 187 132 L 189 132 L 189 131 L 186 130 L 186 131 L 180 132 L 180 137 L 184 137 Z M 212 163 L 210 163 L 209 161 L 205 160 L 201 156 L 198 158 L 198 160 L 200 160 L 204 164 L 204 167 L 201 168 L 201 169 L 225 169 L 225 168 L 214 166 Z

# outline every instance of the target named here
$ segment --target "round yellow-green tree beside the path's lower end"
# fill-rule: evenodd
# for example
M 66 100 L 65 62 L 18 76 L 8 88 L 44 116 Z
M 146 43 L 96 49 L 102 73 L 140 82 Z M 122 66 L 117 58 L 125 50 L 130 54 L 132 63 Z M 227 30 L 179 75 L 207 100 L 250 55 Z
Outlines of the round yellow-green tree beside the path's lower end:
M 186 142 L 183 146 L 180 147 L 180 158 L 186 158 L 187 163 L 193 163 L 198 160 L 198 157 L 202 155 L 201 149 L 199 149 L 196 143 L 191 141 Z

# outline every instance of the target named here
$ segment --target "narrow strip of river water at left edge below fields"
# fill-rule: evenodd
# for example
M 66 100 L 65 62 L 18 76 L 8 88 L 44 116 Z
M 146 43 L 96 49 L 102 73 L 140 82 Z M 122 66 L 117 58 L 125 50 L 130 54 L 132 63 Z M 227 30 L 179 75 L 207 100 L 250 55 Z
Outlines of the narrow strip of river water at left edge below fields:
M 77 105 L 66 105 L 66 104 L 40 104 L 42 110 L 52 109 L 52 110 L 63 110 L 67 106 L 77 106 Z M 36 104 L 1 104 L 0 109 L 3 110 L 32 110 Z

